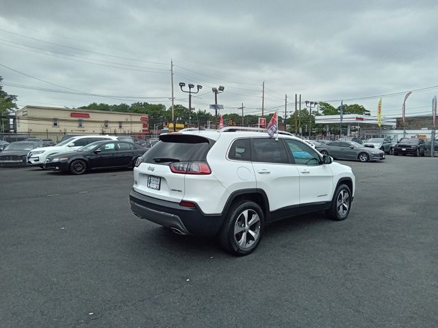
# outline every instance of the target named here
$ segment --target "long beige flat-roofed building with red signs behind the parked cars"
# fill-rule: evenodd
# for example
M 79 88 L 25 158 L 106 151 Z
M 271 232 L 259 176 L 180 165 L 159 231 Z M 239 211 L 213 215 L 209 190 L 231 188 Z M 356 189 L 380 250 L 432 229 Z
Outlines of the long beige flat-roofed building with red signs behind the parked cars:
M 55 141 L 66 134 L 141 136 L 149 134 L 149 118 L 140 113 L 25 106 L 16 111 L 16 133 Z

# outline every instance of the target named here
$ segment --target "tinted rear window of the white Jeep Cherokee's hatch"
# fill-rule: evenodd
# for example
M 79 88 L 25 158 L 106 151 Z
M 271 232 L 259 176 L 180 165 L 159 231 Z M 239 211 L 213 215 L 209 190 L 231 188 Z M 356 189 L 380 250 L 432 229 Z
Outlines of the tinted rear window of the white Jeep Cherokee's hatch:
M 144 156 L 145 163 L 168 164 L 175 161 L 207 161 L 214 141 L 197 135 L 160 135 L 160 141 Z

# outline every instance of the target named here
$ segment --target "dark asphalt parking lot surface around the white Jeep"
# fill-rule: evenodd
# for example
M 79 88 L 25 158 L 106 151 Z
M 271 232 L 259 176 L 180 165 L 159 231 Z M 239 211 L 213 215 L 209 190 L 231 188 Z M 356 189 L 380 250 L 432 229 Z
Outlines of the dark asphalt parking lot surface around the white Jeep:
M 339 162 L 348 219 L 281 221 L 243 258 L 132 215 L 129 170 L 0 169 L 0 326 L 438 327 L 438 158 Z

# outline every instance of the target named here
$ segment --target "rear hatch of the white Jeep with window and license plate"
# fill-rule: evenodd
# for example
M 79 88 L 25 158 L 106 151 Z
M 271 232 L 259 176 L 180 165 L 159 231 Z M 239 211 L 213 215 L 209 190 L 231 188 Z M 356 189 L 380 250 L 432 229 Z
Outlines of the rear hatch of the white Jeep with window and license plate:
M 207 153 L 215 141 L 181 133 L 160 135 L 159 140 L 134 168 L 133 189 L 161 200 L 181 202 L 186 174 L 209 174 Z

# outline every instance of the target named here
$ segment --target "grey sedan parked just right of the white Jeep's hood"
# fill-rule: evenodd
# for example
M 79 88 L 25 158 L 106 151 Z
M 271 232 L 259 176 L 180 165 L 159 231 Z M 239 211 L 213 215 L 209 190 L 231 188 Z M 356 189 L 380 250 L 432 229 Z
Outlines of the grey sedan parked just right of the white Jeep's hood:
M 385 152 L 376 148 L 364 147 L 355 141 L 332 141 L 316 149 L 334 159 L 350 159 L 352 161 L 381 161 L 385 159 Z

